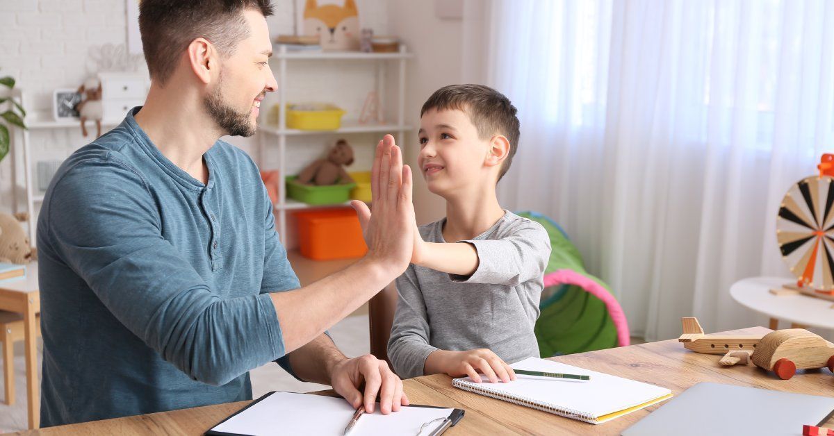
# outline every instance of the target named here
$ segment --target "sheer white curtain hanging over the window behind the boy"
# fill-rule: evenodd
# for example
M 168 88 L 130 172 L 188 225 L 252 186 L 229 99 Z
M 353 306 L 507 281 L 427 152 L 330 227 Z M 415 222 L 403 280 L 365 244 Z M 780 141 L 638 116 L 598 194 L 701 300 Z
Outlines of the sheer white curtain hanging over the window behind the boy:
M 776 213 L 834 151 L 834 2 L 467 0 L 466 82 L 519 109 L 506 208 L 559 222 L 632 334 L 763 324 Z

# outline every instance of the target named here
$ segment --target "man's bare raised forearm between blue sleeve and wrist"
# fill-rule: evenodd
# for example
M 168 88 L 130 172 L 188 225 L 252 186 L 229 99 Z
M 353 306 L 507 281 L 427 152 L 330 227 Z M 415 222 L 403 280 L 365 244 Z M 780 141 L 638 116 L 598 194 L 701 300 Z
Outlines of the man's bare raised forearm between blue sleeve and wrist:
M 324 333 L 396 275 L 382 263 L 363 258 L 304 288 L 269 294 L 278 314 L 284 353 L 291 353 Z

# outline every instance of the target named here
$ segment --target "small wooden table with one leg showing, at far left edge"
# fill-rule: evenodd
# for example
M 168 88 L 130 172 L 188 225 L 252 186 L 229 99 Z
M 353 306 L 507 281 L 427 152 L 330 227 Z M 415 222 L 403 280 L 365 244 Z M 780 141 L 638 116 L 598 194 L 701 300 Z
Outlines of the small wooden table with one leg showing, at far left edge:
M 40 384 L 38 383 L 38 326 L 41 293 L 38 290 L 38 263 L 26 266 L 26 278 L 0 282 L 0 309 L 23 313 L 26 344 L 26 403 L 29 428 L 38 428 L 41 418 Z

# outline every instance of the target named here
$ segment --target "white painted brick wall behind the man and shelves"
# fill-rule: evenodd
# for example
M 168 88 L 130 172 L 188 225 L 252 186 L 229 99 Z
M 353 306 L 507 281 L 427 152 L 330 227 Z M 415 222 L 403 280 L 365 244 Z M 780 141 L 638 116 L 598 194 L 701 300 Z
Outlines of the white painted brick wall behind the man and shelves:
M 294 1 L 300 15 L 304 0 L 273 0 L 275 16 L 268 19 L 273 35 L 292 33 Z M 342 0 L 319 3 L 339 4 Z M 374 28 L 376 34 L 389 33 L 387 4 L 386 0 L 359 0 L 361 26 Z M 0 77 L 11 75 L 18 80 L 18 88 L 27 95 L 24 105 L 30 113 L 51 113 L 55 88 L 77 88 L 95 73 L 89 70 L 89 48 L 127 43 L 126 16 L 125 0 L 0 0 Z M 296 79 L 303 81 L 304 76 Z M 66 158 L 91 140 L 81 137 L 80 128 L 33 130 L 30 137 L 33 167 L 38 160 Z M 248 149 L 250 141 L 234 139 L 234 143 Z M 12 180 L 13 164 L 18 168 L 16 183 Z M 20 153 L 12 153 L 0 163 L 0 211 L 13 209 L 13 185 L 18 206 L 23 208 Z

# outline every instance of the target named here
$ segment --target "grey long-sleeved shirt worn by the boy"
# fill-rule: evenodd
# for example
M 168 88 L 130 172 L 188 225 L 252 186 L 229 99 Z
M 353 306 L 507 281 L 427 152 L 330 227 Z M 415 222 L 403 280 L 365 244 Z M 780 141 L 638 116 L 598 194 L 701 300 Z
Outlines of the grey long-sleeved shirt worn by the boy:
M 445 243 L 446 219 L 420 227 L 426 242 Z M 507 363 L 539 356 L 539 318 L 550 238 L 539 223 L 505 212 L 489 230 L 463 241 L 478 253 L 470 277 L 409 265 L 397 278 L 399 299 L 388 356 L 402 378 L 424 375 L 437 349 L 490 348 Z

